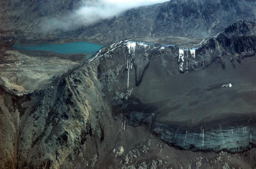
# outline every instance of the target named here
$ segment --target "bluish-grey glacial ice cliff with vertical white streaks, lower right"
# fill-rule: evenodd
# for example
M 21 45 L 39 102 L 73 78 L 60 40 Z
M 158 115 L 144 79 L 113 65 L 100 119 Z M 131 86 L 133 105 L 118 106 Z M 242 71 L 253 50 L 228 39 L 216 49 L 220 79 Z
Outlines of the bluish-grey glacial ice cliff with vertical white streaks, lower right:
M 248 150 L 256 143 L 256 125 L 234 126 L 200 132 L 179 131 L 174 126 L 152 123 L 151 130 L 166 143 L 185 150 L 228 150 L 239 152 Z

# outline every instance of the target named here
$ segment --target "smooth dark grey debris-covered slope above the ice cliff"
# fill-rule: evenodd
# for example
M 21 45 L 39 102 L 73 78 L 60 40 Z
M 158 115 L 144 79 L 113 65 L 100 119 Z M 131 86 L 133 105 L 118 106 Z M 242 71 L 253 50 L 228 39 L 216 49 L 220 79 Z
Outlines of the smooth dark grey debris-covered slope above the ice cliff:
M 243 64 L 231 63 L 223 69 L 212 64 L 204 70 L 189 71 L 166 77 L 162 69 L 150 63 L 136 97 L 145 104 L 156 106 L 157 122 L 194 125 L 228 116 L 252 116 L 256 98 L 256 60 L 246 58 Z M 165 79 L 165 80 L 163 80 Z M 231 83 L 231 88 L 221 87 Z M 206 124 L 207 126 L 207 124 Z

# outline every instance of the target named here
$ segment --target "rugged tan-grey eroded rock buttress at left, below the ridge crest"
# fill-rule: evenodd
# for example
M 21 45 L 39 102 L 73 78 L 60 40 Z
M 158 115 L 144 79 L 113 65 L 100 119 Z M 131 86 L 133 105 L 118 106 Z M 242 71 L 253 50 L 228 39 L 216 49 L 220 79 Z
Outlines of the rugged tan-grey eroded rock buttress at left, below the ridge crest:
M 15 142 L 13 148 L 7 150 L 15 153 L 10 156 L 4 152 L 2 157 L 12 159 L 5 161 L 8 158 L 4 158 L 1 163 L 10 165 L 10 168 L 59 168 L 60 165 L 68 165 L 67 159 L 74 159 L 77 153 L 86 156 L 81 151 L 86 137 L 104 138 L 103 129 L 98 126 L 100 124 L 96 118 L 96 112 L 102 111 L 103 106 L 98 97 L 102 95 L 101 91 L 97 68 L 92 66 L 73 72 L 51 88 L 26 96 L 9 93 L 10 99 L 3 98 L 1 113 L 10 113 L 14 116 L 11 119 L 18 120 L 14 123 L 16 130 L 13 137 L 8 136 Z M 1 96 L 4 93 L 1 88 Z M 15 109 L 20 113 L 13 114 Z M 16 114 L 19 117 L 15 117 Z M 0 120 L 3 125 L 8 123 L 6 118 Z M 3 134 L 6 137 L 9 135 L 7 131 Z M 7 148 L 3 145 L 0 146 L 1 150 Z M 93 166 L 97 154 L 87 159 L 90 158 L 90 165 Z M 84 163 L 87 164 L 86 161 Z

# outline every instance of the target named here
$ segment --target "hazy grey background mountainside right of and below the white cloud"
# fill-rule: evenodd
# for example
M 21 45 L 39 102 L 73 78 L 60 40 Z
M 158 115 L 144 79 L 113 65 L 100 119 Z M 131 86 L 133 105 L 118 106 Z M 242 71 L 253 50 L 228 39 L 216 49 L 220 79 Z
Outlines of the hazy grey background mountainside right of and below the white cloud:
M 255 21 L 255 9 L 255 1 L 172 0 L 129 10 L 89 29 L 81 28 L 75 34 L 79 38 L 97 41 L 162 36 L 202 39 L 220 32 L 237 20 Z

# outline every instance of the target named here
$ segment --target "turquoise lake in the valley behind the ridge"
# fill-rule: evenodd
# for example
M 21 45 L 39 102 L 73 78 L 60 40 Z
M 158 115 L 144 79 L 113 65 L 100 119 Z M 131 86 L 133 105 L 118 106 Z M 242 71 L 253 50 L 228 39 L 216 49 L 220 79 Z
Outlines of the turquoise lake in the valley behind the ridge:
M 92 55 L 103 46 L 91 42 L 70 42 L 64 44 L 45 43 L 38 45 L 24 45 L 19 42 L 15 42 L 12 47 L 18 50 L 52 51 L 63 54 L 89 53 Z

